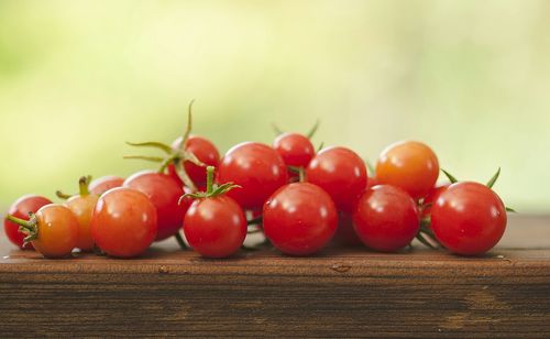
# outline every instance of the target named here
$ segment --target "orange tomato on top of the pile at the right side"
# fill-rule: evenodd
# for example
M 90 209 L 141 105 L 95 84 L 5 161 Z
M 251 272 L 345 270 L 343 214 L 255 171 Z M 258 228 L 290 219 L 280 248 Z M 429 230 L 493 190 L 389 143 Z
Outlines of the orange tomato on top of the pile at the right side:
M 376 178 L 405 189 L 415 199 L 425 197 L 439 176 L 436 153 L 417 141 L 403 141 L 386 147 L 376 163 Z

